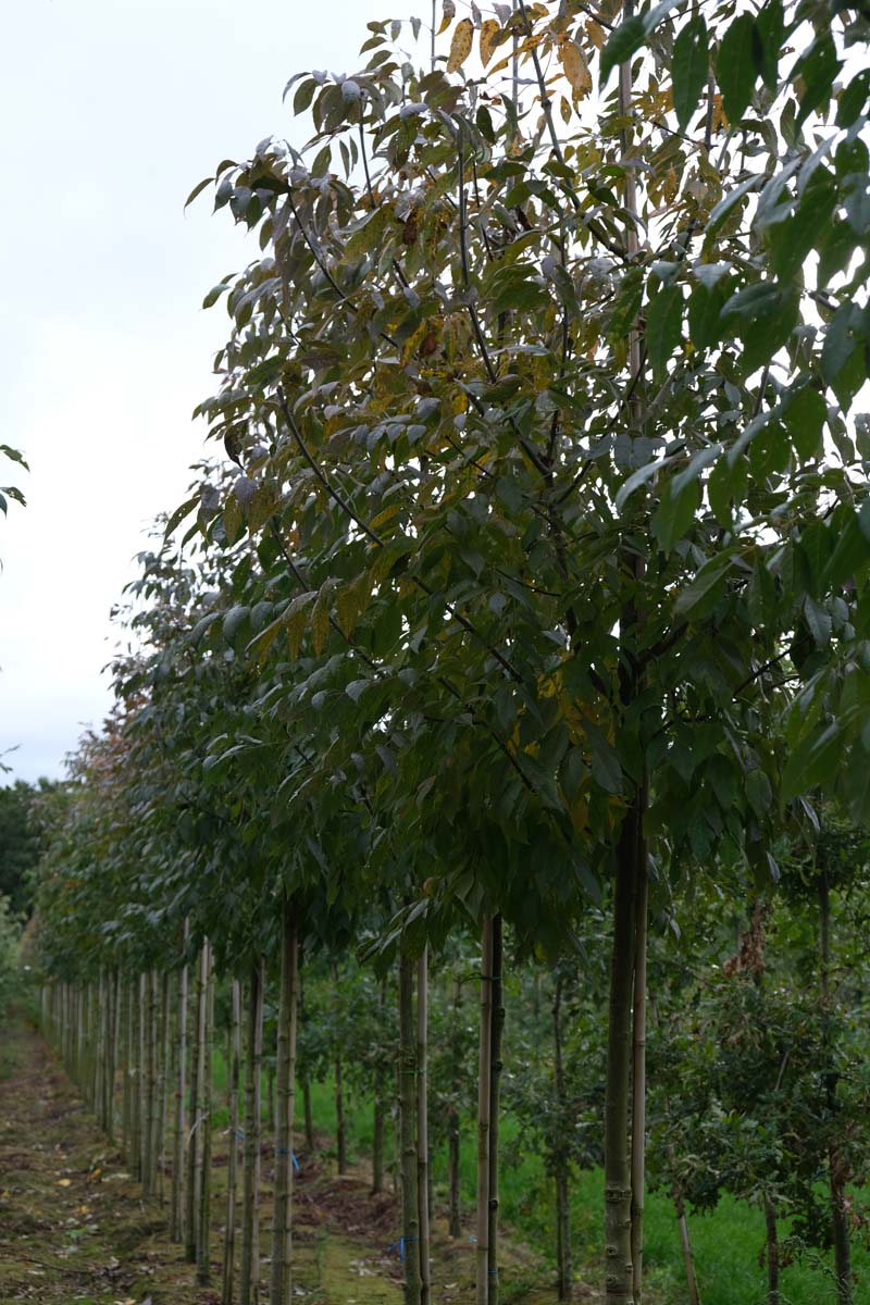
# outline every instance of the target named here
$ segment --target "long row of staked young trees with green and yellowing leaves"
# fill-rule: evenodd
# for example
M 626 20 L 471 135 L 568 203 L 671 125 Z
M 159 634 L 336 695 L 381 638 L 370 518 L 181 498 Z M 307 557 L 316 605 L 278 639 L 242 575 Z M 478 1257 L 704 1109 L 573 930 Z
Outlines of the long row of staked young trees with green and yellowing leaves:
M 605 1283 L 637 1305 L 650 928 L 702 885 L 758 897 L 788 831 L 818 842 L 819 790 L 870 801 L 870 29 L 803 0 L 447 0 L 445 61 L 436 26 L 420 68 L 419 22 L 370 23 L 355 77 L 288 85 L 304 151 L 270 137 L 194 189 L 262 253 L 206 298 L 231 330 L 198 412 L 230 461 L 142 559 L 44 959 L 74 1007 L 198 957 L 197 1056 L 217 972 L 256 1061 L 273 955 L 284 1141 L 300 944 L 397 962 L 412 1302 L 427 957 L 471 932 L 488 1305 L 502 930 L 561 962 L 607 908 Z

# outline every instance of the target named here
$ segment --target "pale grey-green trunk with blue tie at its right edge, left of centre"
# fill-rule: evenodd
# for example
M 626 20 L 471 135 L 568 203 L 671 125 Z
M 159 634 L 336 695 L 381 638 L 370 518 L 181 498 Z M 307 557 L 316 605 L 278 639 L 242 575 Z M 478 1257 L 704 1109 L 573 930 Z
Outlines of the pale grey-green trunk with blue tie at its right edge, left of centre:
M 278 1128 L 275 1135 L 275 1212 L 271 1241 L 270 1305 L 292 1301 L 293 1104 L 296 1078 L 296 992 L 299 946 L 295 910 L 282 904 L 280 994 L 278 1011 Z

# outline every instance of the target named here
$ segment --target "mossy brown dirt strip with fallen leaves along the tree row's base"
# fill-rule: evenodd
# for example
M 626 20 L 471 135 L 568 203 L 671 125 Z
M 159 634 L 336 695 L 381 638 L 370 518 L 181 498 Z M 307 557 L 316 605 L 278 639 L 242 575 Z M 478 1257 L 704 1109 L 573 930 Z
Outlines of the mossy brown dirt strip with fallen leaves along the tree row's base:
M 141 1199 L 76 1088 L 23 1024 L 0 1030 L 12 1074 L 0 1079 L 0 1305 L 218 1305 L 215 1288 L 193 1285 L 184 1249 L 170 1242 L 167 1211 Z M 214 1135 L 213 1282 L 220 1282 L 226 1139 Z M 223 1151 L 223 1154 L 222 1154 Z M 263 1150 L 269 1171 L 269 1152 Z M 269 1248 L 270 1189 L 263 1189 L 261 1245 Z M 393 1197 L 372 1198 L 363 1174 L 330 1177 L 317 1160 L 296 1184 L 295 1296 L 309 1305 L 399 1305 L 400 1265 Z M 530 1257 L 505 1248 L 513 1291 L 502 1301 L 550 1301 Z M 513 1271 L 511 1271 L 513 1270 Z M 262 1263 L 266 1283 L 269 1265 Z M 473 1246 L 433 1238 L 433 1293 L 445 1305 L 473 1301 Z M 505 1284 L 507 1285 L 507 1284 Z M 262 1296 L 261 1296 L 262 1298 Z

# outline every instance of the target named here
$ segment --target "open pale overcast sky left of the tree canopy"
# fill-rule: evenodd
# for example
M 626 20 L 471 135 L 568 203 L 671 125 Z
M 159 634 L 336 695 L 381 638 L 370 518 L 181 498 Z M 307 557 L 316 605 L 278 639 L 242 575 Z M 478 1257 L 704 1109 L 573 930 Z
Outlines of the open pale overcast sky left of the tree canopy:
M 428 0 L 27 0 L 4 10 L 0 444 L 25 510 L 0 515 L 0 753 L 57 776 L 108 703 L 112 603 L 145 529 L 203 452 L 223 308 L 206 291 L 257 257 L 193 185 L 263 136 L 307 68 L 351 73 L 370 18 Z M 17 470 L 17 468 L 16 468 Z M 0 461 L 0 480 L 7 463 Z M 4 779 L 0 776 L 0 783 Z

